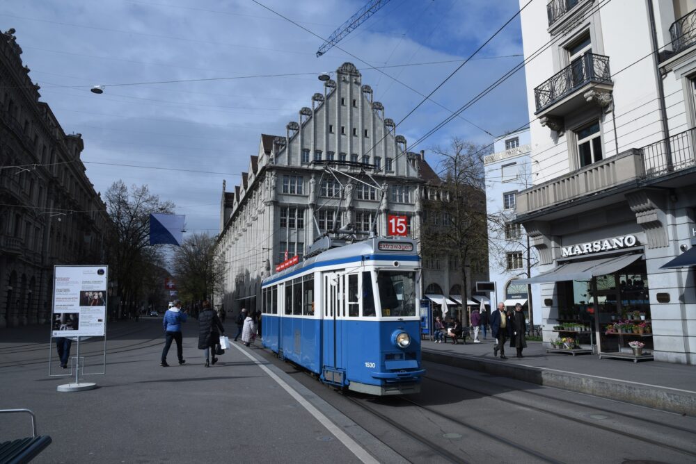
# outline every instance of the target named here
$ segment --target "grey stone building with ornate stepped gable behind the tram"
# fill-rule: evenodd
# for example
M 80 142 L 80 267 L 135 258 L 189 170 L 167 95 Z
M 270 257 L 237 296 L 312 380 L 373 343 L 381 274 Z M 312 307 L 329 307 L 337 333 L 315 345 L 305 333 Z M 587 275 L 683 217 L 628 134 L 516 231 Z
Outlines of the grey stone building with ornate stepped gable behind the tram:
M 369 174 L 376 186 L 345 174 Z M 342 204 L 339 177 L 347 184 Z M 301 257 L 334 220 L 344 228 L 351 224 L 359 238 L 367 237 L 373 221 L 376 232 L 386 235 L 388 214 L 406 216 L 408 235 L 418 238 L 429 181 L 438 179 L 423 153 L 406 150 L 406 139 L 384 117 L 382 103 L 373 101 L 358 69 L 344 63 L 335 80 L 324 82 L 324 92 L 313 95 L 311 107 L 301 108 L 298 120 L 287 124 L 285 135 L 261 135 L 240 185 L 227 192 L 223 183 L 217 250 L 228 272 L 215 303 L 235 312 L 256 308 L 260 281 L 286 256 Z M 423 280 L 423 290 L 431 283 L 450 288 L 450 280 L 459 277 L 443 268 L 426 270 Z

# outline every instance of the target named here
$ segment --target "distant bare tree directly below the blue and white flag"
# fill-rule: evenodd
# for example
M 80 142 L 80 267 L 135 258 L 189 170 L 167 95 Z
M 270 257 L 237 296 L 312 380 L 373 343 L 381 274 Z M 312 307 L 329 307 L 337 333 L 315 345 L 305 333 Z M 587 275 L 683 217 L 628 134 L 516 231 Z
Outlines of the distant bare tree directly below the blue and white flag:
M 174 251 L 174 274 L 180 297 L 187 301 L 207 299 L 222 289 L 225 265 L 215 254 L 215 238 L 194 233 Z

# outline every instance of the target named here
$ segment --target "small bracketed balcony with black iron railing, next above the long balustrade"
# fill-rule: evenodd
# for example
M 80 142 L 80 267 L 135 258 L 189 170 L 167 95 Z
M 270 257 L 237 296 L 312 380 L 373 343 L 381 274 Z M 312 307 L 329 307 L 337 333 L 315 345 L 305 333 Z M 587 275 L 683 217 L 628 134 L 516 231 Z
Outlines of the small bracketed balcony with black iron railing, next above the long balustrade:
M 609 57 L 588 51 L 535 88 L 535 115 L 566 115 L 587 104 L 585 93 L 588 90 L 610 92 L 613 88 Z

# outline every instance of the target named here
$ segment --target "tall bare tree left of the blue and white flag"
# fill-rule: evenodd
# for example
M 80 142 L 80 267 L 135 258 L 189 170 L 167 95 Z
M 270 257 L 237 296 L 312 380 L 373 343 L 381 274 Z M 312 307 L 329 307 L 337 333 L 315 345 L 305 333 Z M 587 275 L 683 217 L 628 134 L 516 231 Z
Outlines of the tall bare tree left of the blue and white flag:
M 150 246 L 150 213 L 173 213 L 171 201 L 161 201 L 147 185 L 114 182 L 106 190 L 106 212 L 113 221 L 109 237 L 109 265 L 116 277 L 117 295 L 132 313 L 143 296 L 143 279 L 152 265 L 162 265 L 161 245 Z

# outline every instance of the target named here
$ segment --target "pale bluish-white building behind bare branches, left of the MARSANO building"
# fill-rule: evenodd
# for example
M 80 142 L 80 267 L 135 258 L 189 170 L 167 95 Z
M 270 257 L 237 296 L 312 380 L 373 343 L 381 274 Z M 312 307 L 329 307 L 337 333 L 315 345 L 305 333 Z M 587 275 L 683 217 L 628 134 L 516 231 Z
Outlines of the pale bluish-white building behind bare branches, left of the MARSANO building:
M 530 150 L 530 131 L 525 129 L 496 138 L 493 154 L 484 158 L 489 270 L 491 281 L 496 283 L 496 292 L 491 295 L 493 308 L 502 301 L 509 307 L 519 302 L 527 310 L 527 285 L 519 285 L 515 279 L 528 276 L 528 262 L 530 276 L 537 274 L 537 253 L 528 246 L 524 228 L 509 223 L 514 219 L 517 192 L 530 187 L 532 182 Z M 500 225 L 503 220 L 508 222 L 505 226 Z M 535 324 L 541 324 L 538 288 L 532 289 L 532 317 Z

